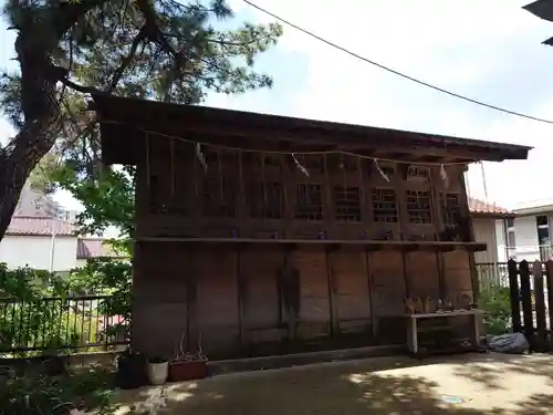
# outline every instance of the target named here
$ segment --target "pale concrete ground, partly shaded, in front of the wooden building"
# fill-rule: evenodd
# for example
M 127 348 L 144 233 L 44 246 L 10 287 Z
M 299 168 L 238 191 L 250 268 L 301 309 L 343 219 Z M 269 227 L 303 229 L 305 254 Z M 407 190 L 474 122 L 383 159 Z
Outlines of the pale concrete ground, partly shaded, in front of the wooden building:
M 122 391 L 119 402 L 117 415 L 543 415 L 553 414 L 553 356 L 322 363 Z

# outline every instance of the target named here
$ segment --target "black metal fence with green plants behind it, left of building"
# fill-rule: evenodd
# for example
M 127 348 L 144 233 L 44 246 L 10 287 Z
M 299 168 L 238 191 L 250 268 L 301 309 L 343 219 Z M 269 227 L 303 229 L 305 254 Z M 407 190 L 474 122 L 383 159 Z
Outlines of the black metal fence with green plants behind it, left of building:
M 0 299 L 0 354 L 107 350 L 128 344 L 128 324 L 109 295 Z

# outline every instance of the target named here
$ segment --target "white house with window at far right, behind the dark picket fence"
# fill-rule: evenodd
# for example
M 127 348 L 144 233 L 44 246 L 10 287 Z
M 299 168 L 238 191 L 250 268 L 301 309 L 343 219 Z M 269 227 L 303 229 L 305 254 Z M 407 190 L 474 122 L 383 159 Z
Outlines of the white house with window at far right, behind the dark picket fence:
M 553 200 L 532 201 L 513 209 L 509 224 L 509 250 L 518 261 L 553 259 Z

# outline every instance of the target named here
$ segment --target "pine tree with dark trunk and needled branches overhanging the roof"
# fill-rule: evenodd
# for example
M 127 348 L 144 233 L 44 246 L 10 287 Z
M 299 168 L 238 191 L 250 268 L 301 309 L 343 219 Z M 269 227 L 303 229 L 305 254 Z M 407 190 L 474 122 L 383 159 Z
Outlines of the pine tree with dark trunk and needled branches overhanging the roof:
M 81 181 L 107 176 L 126 186 L 122 176 L 97 177 L 98 131 L 86 94 L 197 104 L 209 92 L 271 86 L 252 66 L 282 32 L 231 25 L 225 0 L 4 0 L 3 13 L 17 32 L 20 71 L 0 81 L 0 106 L 18 129 L 0 148 L 0 238 L 22 186 L 52 151 Z

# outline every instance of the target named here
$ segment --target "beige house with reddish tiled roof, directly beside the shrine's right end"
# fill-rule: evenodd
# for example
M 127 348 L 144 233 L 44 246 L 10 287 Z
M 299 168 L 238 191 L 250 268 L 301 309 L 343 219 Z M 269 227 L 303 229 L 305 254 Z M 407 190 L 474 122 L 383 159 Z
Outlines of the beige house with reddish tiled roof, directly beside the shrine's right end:
M 488 250 L 474 252 L 477 263 L 507 262 L 508 231 L 505 225 L 512 224 L 515 214 L 505 208 L 483 200 L 469 198 L 469 210 L 472 218 L 474 240 L 484 242 Z

